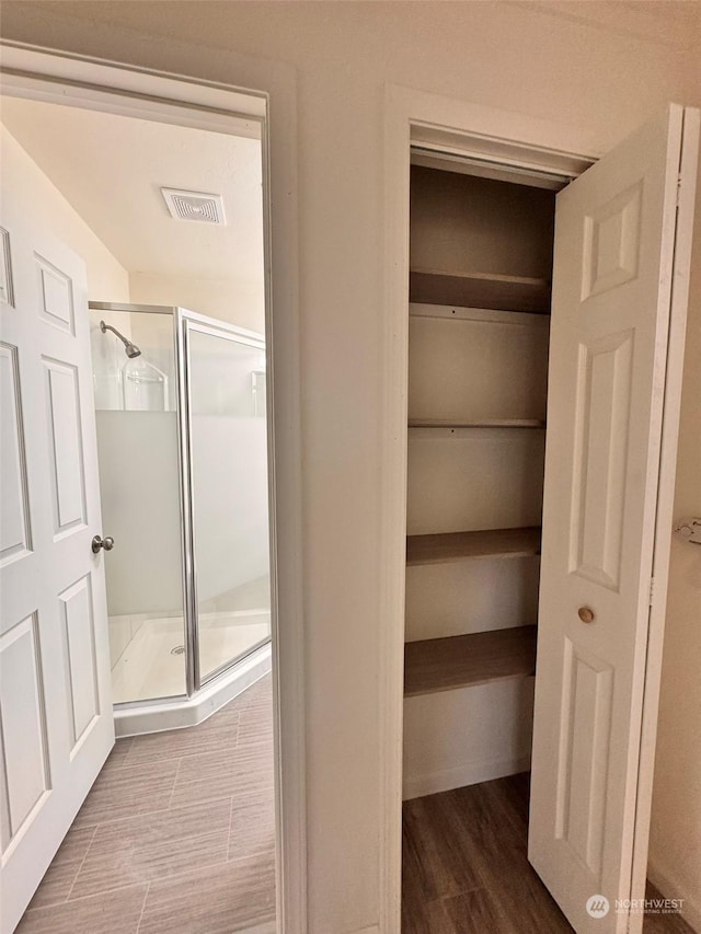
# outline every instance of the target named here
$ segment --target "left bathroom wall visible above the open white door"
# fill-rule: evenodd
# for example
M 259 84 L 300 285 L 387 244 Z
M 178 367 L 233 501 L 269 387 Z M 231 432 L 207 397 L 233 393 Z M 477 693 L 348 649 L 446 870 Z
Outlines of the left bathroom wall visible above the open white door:
M 45 226 L 58 240 L 85 261 L 88 297 L 104 301 L 128 301 L 129 277 L 85 221 L 68 204 L 20 143 L 0 126 L 2 183 L 26 205 L 37 224 Z

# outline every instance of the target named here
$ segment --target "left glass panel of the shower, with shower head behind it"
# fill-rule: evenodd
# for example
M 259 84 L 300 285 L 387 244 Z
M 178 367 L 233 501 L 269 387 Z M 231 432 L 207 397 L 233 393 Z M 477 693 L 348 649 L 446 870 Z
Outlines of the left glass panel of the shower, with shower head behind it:
M 90 330 L 102 528 L 115 541 L 104 555 L 114 702 L 177 696 L 185 655 L 173 316 L 91 310 Z

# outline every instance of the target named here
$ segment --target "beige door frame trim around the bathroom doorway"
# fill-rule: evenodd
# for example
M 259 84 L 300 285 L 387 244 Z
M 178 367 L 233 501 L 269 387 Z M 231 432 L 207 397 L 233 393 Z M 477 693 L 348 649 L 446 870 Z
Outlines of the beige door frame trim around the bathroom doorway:
M 25 43 L 0 43 L 2 93 L 230 130 L 262 124 L 268 358 L 272 654 L 276 788 L 277 929 L 307 931 L 307 820 L 301 523 L 301 430 L 295 70 L 227 53 L 212 74 L 179 73 L 187 49 L 154 70 Z M 152 47 L 151 47 L 152 51 Z M 146 56 L 142 56 L 146 57 Z M 153 56 L 149 57 L 152 60 Z M 147 59 L 148 60 L 148 59 Z M 250 89 L 250 90 L 249 90 Z M 271 101 L 274 106 L 271 107 Z M 278 612 L 279 608 L 284 612 Z M 284 623 L 280 623 L 280 616 Z

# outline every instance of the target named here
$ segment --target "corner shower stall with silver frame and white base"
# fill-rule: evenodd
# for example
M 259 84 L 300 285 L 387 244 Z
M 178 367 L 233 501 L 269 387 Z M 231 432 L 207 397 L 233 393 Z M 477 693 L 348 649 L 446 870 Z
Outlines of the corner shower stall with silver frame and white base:
M 117 735 L 195 724 L 271 667 L 264 338 L 90 303 Z

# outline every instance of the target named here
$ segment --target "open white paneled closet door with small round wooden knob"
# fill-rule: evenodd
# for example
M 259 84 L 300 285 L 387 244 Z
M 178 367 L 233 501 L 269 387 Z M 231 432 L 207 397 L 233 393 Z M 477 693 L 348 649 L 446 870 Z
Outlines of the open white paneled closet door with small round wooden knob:
M 558 196 L 529 858 L 577 932 L 642 927 L 698 130 Z

